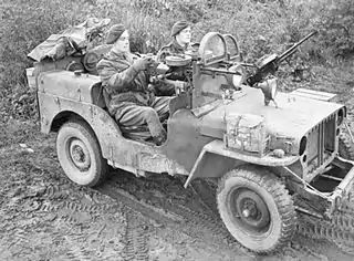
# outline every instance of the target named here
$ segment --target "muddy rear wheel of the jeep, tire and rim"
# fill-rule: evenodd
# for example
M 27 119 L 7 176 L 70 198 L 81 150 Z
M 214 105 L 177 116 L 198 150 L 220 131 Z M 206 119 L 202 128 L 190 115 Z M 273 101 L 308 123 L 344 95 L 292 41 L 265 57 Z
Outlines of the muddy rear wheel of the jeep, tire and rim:
M 86 123 L 65 123 L 56 136 L 56 153 L 65 175 L 75 184 L 94 187 L 104 180 L 107 161 Z

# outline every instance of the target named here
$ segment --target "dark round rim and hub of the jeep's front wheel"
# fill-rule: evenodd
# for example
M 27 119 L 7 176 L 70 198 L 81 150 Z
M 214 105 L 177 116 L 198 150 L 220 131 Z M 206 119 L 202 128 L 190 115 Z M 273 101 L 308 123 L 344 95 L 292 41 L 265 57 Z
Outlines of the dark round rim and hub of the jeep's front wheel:
M 266 229 L 270 213 L 263 199 L 256 192 L 244 189 L 235 194 L 235 210 L 238 222 L 251 230 Z

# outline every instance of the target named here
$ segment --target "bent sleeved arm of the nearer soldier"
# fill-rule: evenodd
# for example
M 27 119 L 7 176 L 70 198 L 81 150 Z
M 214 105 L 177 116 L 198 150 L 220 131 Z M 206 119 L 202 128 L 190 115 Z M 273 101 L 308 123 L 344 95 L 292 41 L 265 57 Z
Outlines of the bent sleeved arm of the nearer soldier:
M 129 67 L 122 66 L 122 69 L 119 69 L 112 66 L 106 61 L 101 61 L 97 64 L 97 72 L 102 83 L 111 88 L 119 88 L 131 84 L 138 74 L 138 71 L 132 65 Z

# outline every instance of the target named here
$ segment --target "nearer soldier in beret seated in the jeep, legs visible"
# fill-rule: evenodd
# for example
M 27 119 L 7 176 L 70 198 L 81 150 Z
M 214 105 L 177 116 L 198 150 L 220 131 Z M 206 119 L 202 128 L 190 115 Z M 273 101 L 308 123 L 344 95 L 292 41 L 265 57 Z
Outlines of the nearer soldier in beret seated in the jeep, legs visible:
M 155 97 L 146 69 L 154 62 L 131 53 L 129 33 L 123 24 L 113 25 L 106 39 L 111 51 L 97 64 L 97 72 L 111 96 L 108 112 L 123 127 L 147 125 L 156 145 L 166 140 L 160 119 L 169 114 L 171 97 Z

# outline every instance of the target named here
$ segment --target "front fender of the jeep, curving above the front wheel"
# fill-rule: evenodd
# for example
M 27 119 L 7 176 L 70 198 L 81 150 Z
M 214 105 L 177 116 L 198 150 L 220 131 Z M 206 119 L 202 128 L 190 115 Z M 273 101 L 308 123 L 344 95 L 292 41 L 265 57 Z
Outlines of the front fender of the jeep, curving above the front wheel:
M 222 159 L 222 160 L 220 160 Z M 299 156 L 275 158 L 271 156 L 256 157 L 225 148 L 222 140 L 215 139 L 206 144 L 185 182 L 185 188 L 197 177 L 221 177 L 225 173 L 243 163 L 268 167 L 289 166 L 295 163 Z

